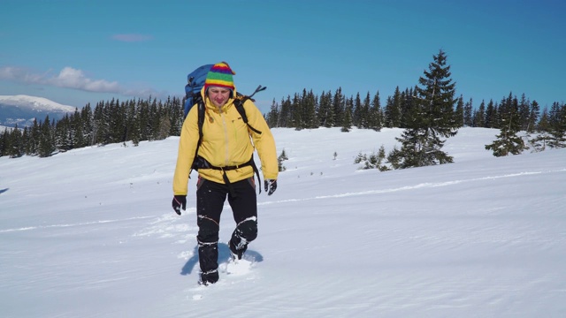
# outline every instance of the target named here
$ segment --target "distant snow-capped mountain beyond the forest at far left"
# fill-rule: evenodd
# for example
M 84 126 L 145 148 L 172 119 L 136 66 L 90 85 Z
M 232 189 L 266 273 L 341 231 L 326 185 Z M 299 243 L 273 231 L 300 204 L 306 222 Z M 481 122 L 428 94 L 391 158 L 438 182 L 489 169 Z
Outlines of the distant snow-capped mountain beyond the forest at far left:
M 29 126 L 34 118 L 41 121 L 49 115 L 50 119 L 60 119 L 75 107 L 62 105 L 47 98 L 28 95 L 0 95 L 0 125 L 13 127 Z

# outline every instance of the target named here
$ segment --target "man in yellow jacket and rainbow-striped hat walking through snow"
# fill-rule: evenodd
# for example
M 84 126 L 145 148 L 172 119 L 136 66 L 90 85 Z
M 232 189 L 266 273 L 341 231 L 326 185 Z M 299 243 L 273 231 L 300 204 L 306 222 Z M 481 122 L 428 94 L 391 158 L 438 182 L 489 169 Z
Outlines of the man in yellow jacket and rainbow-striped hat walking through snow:
M 190 170 L 198 170 L 196 239 L 200 283 L 205 285 L 218 281 L 218 232 L 226 197 L 236 223 L 228 242 L 233 258 L 241 259 L 249 242 L 256 239 L 254 148 L 261 160 L 265 191 L 271 195 L 277 189 L 279 168 L 275 140 L 254 102 L 236 93 L 233 75 L 226 62 L 214 64 L 207 73 L 201 90 L 202 108 L 192 107 L 181 129 L 173 177 L 172 208 L 180 215 L 180 209 L 185 210 L 187 205 Z M 236 109 L 241 106 L 245 114 Z M 199 111 L 203 111 L 204 116 L 202 127 L 199 127 Z M 247 123 L 242 117 L 247 117 Z

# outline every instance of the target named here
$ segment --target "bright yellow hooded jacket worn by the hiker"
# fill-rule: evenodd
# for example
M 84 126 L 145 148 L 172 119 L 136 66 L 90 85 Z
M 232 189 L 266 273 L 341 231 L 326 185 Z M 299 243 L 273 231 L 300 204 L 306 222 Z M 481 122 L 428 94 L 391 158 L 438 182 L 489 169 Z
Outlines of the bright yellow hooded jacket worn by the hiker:
M 249 125 L 260 131 L 261 134 L 249 130 L 248 125 L 243 122 L 240 113 L 233 105 L 233 98 L 226 102 L 222 110 L 218 110 L 218 107 L 214 106 L 204 94 L 204 88 L 201 90 L 201 95 L 203 95 L 206 111 L 203 141 L 198 148 L 198 155 L 216 167 L 233 166 L 249 162 L 255 146 L 261 160 L 264 178 L 277 179 L 279 166 L 275 140 L 264 116 L 254 102 L 247 100 L 243 106 Z M 236 95 L 235 88 L 233 95 Z M 188 112 L 181 128 L 177 166 L 173 176 L 173 195 L 187 195 L 188 174 L 191 169 L 190 165 L 195 159 L 198 138 L 198 110 L 197 107 L 193 107 Z M 221 170 L 199 169 L 198 173 L 200 177 L 210 181 L 225 183 Z M 226 170 L 226 175 L 230 182 L 236 182 L 253 177 L 254 170 L 251 166 L 246 166 L 241 169 Z

